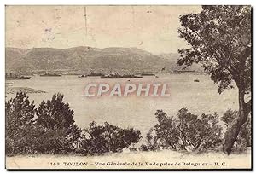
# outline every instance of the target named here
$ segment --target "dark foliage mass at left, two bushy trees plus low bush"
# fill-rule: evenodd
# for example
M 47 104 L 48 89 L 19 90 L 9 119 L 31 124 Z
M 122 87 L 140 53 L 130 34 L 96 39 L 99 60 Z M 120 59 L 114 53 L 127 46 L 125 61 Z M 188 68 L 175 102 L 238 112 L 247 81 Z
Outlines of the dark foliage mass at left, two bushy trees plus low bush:
M 92 122 L 82 133 L 63 97 L 54 95 L 51 100 L 41 102 L 38 109 L 21 92 L 6 102 L 7 155 L 102 154 L 121 151 L 140 140 L 140 131 L 107 122 L 104 125 Z

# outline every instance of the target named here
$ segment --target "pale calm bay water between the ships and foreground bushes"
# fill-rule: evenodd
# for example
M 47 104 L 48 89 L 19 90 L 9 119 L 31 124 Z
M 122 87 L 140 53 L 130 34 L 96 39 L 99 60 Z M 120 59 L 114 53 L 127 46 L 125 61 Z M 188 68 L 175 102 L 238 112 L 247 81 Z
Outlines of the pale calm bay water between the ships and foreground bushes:
M 158 75 L 159 78 L 132 78 L 129 83 L 167 83 L 170 97 L 86 97 L 84 87 L 89 83 L 126 83 L 128 79 L 101 79 L 99 77 L 78 78 L 77 76 L 39 77 L 29 80 L 10 80 L 14 87 L 29 87 L 46 93 L 28 94 L 38 105 L 50 99 L 53 94 L 64 94 L 65 102 L 74 111 L 74 119 L 79 127 L 86 127 L 91 121 L 102 124 L 105 121 L 113 125 L 134 127 L 146 135 L 156 123 L 154 113 L 157 109 L 174 115 L 181 107 L 188 107 L 193 113 L 223 114 L 228 108 L 238 108 L 237 90 L 226 90 L 218 95 L 217 85 L 207 75 L 171 74 Z M 194 82 L 199 79 L 199 82 Z M 7 95 L 7 99 L 15 95 Z

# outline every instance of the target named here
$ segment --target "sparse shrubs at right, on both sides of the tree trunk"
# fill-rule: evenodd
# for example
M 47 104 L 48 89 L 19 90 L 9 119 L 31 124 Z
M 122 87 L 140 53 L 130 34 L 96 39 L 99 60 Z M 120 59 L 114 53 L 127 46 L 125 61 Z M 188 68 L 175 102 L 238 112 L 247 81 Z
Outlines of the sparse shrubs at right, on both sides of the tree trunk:
M 223 129 L 217 113 L 202 113 L 199 117 L 187 108 L 178 111 L 176 117 L 168 117 L 162 110 L 155 113 L 158 124 L 148 131 L 143 151 L 159 149 L 195 152 L 221 151 L 224 141 Z M 228 127 L 238 117 L 237 111 L 227 110 L 221 120 Z M 251 119 L 248 118 L 236 139 L 233 151 L 244 151 L 251 146 Z

